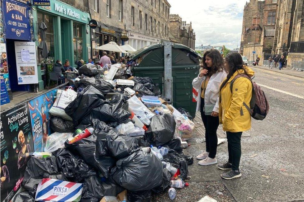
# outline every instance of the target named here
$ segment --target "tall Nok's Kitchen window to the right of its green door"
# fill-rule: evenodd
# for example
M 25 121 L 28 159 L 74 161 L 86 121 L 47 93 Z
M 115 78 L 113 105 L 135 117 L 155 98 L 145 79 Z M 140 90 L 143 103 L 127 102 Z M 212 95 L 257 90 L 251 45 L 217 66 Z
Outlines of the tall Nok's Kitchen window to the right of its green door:
M 83 25 L 73 23 L 73 47 L 74 61 L 77 64 L 78 60 L 83 59 Z

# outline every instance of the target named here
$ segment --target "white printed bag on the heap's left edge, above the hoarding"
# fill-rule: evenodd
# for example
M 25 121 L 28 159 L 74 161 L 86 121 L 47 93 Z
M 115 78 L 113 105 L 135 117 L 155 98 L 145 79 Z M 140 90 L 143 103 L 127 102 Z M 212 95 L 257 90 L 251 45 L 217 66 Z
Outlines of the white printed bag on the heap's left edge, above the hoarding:
M 67 89 L 66 91 L 57 90 L 57 99 L 54 105 L 50 109 L 50 114 L 54 116 L 59 116 L 65 120 L 72 120 L 72 118 L 67 115 L 64 111 L 73 100 L 75 100 L 77 92 L 72 89 Z

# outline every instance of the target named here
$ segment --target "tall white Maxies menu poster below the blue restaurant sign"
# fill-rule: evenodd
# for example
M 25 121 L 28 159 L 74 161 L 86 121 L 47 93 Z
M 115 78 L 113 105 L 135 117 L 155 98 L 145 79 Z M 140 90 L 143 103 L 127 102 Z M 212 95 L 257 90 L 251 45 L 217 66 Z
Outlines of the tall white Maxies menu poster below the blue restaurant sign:
M 15 41 L 18 84 L 38 83 L 35 42 Z

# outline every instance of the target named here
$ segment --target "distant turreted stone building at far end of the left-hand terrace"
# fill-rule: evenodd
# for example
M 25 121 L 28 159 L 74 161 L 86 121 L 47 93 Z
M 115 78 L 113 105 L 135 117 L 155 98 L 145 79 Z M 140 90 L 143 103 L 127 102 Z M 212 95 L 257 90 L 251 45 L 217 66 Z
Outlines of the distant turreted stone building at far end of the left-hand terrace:
M 170 15 L 170 41 L 180 43 L 195 49 L 195 32 L 192 28 L 192 22 L 189 24 L 182 21 L 179 15 Z

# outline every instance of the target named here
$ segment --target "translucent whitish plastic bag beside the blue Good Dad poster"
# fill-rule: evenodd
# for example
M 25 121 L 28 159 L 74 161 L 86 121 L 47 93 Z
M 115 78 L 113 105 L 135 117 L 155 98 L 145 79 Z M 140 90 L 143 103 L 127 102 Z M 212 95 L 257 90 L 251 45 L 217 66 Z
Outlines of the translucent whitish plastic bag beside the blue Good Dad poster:
M 69 138 L 73 137 L 73 133 L 52 133 L 48 136 L 45 142 L 45 152 L 54 152 L 58 148 L 64 148 L 64 142 Z

